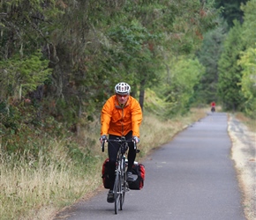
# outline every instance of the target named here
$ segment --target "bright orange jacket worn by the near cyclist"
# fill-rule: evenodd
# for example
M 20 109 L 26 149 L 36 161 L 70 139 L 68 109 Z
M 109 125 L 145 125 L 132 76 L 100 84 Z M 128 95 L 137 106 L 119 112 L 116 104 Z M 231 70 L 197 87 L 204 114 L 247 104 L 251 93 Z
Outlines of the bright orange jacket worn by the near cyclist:
M 124 108 L 118 105 L 116 95 L 111 96 L 102 107 L 102 135 L 125 136 L 132 130 L 132 136 L 139 137 L 142 111 L 139 102 L 129 96 Z

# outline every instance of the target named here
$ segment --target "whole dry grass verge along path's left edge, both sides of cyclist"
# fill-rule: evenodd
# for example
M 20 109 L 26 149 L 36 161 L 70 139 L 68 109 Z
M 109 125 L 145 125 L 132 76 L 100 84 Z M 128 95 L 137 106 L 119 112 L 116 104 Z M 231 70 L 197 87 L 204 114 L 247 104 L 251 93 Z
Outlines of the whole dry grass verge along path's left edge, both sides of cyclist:
M 169 142 L 178 131 L 204 117 L 206 112 L 206 109 L 192 109 L 191 114 L 169 121 L 160 121 L 152 115 L 145 115 L 141 126 L 141 153 L 138 159 Z M 87 172 L 76 169 L 77 165 L 67 156 L 66 142 L 62 140 L 52 140 L 49 143 L 51 158 L 39 155 L 38 161 L 32 158 L 29 163 L 22 158 L 15 161 L 15 155 L 13 158 L 6 157 L 2 152 L 1 219 L 52 219 L 58 210 L 83 196 L 87 198 L 97 187 L 102 186 L 102 161 L 107 157 L 107 152 L 102 153 L 98 134 L 99 125 L 94 125 L 93 129 L 80 134 L 81 149 L 87 146 L 94 157 L 94 163 Z

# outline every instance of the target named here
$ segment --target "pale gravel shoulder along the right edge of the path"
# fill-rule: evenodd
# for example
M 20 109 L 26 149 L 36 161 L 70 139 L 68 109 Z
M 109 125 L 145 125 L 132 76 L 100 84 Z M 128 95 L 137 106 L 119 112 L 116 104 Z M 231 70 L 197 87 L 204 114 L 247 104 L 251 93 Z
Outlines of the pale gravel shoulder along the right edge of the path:
M 256 132 L 230 114 L 228 131 L 232 142 L 231 158 L 243 192 L 243 205 L 248 220 L 256 219 Z

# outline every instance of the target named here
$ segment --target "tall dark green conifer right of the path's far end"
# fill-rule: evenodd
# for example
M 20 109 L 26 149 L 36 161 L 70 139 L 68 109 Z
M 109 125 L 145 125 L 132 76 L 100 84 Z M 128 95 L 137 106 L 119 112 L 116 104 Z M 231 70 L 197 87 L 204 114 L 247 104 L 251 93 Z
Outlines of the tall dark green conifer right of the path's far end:
M 223 107 L 227 110 L 239 110 L 243 108 L 243 95 L 241 94 L 242 69 L 237 64 L 241 43 L 241 25 L 235 23 L 224 42 L 223 53 L 218 62 L 219 81 L 218 94 Z M 236 47 L 234 47 L 236 45 Z

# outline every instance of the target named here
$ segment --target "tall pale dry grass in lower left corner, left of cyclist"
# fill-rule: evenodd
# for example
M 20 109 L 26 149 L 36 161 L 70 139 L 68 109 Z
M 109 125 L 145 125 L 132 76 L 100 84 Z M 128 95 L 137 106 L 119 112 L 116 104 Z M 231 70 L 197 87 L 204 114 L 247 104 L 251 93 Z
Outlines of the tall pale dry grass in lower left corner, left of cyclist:
M 2 153 L 1 220 L 50 219 L 57 209 L 75 202 L 99 185 L 100 180 L 91 172 L 76 170 L 76 165 L 67 157 L 64 143 L 55 140 L 49 148 L 52 158 L 39 155 L 39 161 L 31 159 L 29 163 L 23 158 L 17 161 L 15 155 L 5 157 Z M 94 167 L 93 170 L 100 169 L 97 165 Z

